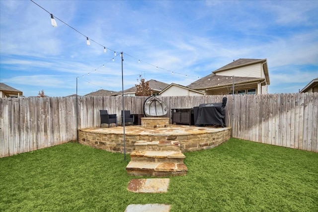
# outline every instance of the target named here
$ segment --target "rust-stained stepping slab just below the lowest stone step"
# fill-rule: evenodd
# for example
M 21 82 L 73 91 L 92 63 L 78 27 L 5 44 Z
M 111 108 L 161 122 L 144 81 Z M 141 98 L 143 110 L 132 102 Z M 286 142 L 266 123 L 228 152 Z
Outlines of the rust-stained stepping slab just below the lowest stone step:
M 169 183 L 169 178 L 132 179 L 127 189 L 135 193 L 166 193 Z

